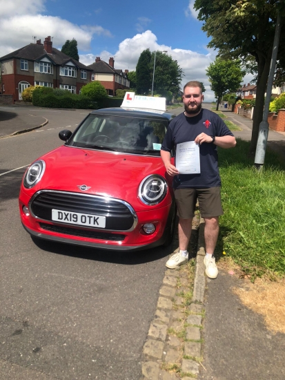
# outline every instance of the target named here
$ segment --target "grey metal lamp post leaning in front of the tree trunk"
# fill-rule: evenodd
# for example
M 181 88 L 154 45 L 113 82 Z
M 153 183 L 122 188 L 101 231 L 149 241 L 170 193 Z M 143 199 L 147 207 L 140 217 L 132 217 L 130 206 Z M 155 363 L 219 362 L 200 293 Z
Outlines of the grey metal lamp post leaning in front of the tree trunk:
M 260 167 L 263 166 L 265 153 L 266 153 L 266 144 L 267 144 L 268 131 L 269 131 L 269 124 L 268 124 L 267 119 L 268 119 L 269 103 L 271 99 L 271 91 L 272 91 L 275 66 L 276 66 L 276 61 L 277 61 L 279 39 L 280 39 L 280 31 L 281 31 L 280 23 L 281 23 L 281 16 L 280 16 L 280 12 L 278 12 L 276 28 L 275 28 L 275 36 L 274 36 L 274 42 L 273 42 L 273 50 L 272 50 L 272 55 L 271 55 L 271 66 L 270 66 L 269 77 L 268 77 L 268 82 L 267 82 L 264 113 L 263 113 L 262 122 L 259 124 L 258 140 L 257 140 L 256 151 L 255 151 L 255 167 L 257 167 L 257 169 L 260 169 Z

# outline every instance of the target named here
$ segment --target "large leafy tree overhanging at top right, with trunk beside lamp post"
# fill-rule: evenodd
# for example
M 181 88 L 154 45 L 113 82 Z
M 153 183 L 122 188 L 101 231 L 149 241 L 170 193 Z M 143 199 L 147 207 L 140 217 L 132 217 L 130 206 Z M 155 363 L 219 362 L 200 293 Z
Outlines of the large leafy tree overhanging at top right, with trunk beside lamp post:
M 212 37 L 208 47 L 219 50 L 219 56 L 228 59 L 254 61 L 257 70 L 255 116 L 250 153 L 257 145 L 259 124 L 262 122 L 264 93 L 271 64 L 271 54 L 277 20 L 281 12 L 284 27 L 283 0 L 195 0 L 198 19 L 204 21 L 202 30 Z M 280 37 L 279 63 L 285 64 L 285 33 Z M 284 66 L 283 66 L 284 68 Z

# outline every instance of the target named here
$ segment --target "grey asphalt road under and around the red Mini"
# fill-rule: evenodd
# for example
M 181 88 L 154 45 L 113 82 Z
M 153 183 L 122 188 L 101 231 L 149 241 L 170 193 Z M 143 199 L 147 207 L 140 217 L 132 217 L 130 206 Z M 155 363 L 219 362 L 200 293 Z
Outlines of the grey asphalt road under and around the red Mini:
M 0 379 L 138 380 L 171 250 L 34 242 L 19 218 L 23 173 L 88 111 L 30 111 L 48 124 L 0 140 Z

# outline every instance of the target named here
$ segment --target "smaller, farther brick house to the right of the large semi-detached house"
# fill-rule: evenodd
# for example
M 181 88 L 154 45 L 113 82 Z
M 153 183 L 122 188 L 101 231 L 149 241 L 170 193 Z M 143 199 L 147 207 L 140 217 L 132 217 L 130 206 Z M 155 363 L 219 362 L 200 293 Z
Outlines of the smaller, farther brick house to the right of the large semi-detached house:
M 118 89 L 125 90 L 130 88 L 128 80 L 128 70 L 114 68 L 114 58 L 110 57 L 109 63 L 101 61 L 96 57 L 95 62 L 87 66 L 92 70 L 92 81 L 99 81 L 106 88 L 108 95 L 115 96 Z

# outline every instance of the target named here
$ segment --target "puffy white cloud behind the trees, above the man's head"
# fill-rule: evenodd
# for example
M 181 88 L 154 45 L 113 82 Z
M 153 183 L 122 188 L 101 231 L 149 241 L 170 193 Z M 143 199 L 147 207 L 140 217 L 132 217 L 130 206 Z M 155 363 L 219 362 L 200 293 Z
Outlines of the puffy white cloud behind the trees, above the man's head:
M 208 53 L 201 54 L 191 50 L 173 49 L 171 46 L 159 45 L 157 44 L 157 37 L 151 30 L 146 30 L 146 32 L 137 34 L 132 38 L 124 39 L 124 41 L 121 41 L 121 44 L 119 44 L 119 49 L 115 54 L 104 50 L 96 55 L 80 55 L 80 61 L 83 64 L 89 65 L 95 61 L 96 57 L 101 57 L 101 59 L 106 62 L 109 61 L 109 57 L 114 57 L 115 68 L 121 68 L 123 71 L 125 69 L 135 70 L 139 55 L 147 48 L 149 48 L 150 51 L 167 50 L 168 54 L 177 60 L 185 75 L 182 78 L 181 88 L 190 80 L 199 80 L 204 83 L 206 88 L 206 102 L 212 102 L 214 100 L 215 95 L 213 91 L 210 90 L 210 84 L 206 76 L 206 68 L 215 60 L 217 54 L 215 50 L 208 49 Z

